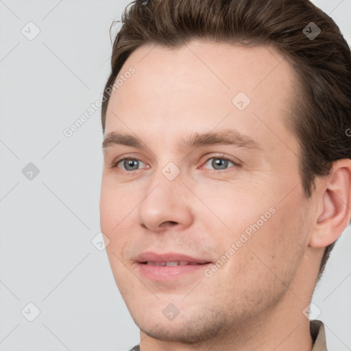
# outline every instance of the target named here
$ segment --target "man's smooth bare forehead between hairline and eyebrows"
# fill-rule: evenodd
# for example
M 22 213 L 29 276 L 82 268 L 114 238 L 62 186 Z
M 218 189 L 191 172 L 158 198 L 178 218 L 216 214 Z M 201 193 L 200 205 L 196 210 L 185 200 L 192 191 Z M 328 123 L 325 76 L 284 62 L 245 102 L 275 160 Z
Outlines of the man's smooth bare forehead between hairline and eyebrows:
M 134 73 L 125 74 L 131 67 Z M 284 125 L 293 75 L 289 62 L 268 46 L 195 40 L 176 49 L 145 45 L 117 77 L 123 82 L 112 91 L 105 134 L 132 132 L 165 145 L 194 131 L 234 128 L 268 148 L 297 150 Z

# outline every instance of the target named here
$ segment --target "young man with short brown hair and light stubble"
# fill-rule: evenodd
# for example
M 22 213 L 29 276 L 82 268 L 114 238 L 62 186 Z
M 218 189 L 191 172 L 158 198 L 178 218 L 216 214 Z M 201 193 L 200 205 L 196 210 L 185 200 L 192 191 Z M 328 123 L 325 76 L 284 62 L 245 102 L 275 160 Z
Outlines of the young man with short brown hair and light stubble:
M 350 82 L 307 0 L 125 10 L 100 214 L 134 350 L 326 350 L 308 306 L 351 217 Z

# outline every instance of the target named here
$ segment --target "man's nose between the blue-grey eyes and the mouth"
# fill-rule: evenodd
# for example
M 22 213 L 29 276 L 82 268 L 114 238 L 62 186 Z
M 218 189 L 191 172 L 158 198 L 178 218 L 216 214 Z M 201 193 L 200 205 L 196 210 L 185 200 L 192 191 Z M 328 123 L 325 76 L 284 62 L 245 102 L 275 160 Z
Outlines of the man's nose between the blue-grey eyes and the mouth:
M 161 171 L 153 176 L 138 206 L 138 221 L 152 232 L 191 226 L 191 192 L 183 184 L 181 174 L 173 180 L 167 179 Z

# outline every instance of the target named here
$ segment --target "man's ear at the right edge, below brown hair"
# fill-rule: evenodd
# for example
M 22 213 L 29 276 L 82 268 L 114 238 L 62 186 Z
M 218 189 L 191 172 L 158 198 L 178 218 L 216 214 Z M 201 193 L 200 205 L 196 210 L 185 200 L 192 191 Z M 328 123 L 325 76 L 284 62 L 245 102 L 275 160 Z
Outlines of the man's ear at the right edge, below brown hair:
M 351 217 L 351 160 L 333 162 L 332 170 L 316 187 L 317 212 L 309 245 L 326 247 L 340 237 Z

